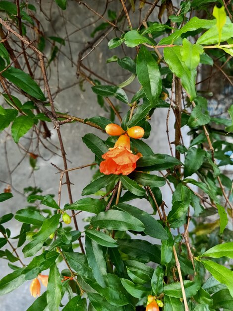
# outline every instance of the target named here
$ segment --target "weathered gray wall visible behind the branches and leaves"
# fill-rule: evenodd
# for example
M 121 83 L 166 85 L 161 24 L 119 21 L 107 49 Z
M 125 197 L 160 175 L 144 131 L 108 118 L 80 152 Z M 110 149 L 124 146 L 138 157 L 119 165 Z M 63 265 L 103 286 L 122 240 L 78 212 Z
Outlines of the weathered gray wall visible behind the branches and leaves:
M 42 6 L 47 15 L 51 16 L 52 26 L 46 20 L 46 16 L 40 12 L 38 2 L 34 1 L 38 15 L 42 20 L 42 24 L 44 27 L 45 34 L 47 36 L 59 36 L 61 38 L 65 37 L 65 27 L 64 21 L 67 28 L 67 33 L 70 34 L 74 30 L 78 30 L 83 28 L 85 25 L 96 20 L 96 16 L 93 16 L 88 9 L 86 9 L 83 5 L 79 5 L 76 1 L 68 1 L 68 8 L 66 11 L 61 12 L 58 9 L 56 3 L 54 1 L 44 1 L 42 0 Z M 102 12 L 104 9 L 105 2 L 104 0 L 95 0 L 95 1 L 86 1 L 89 5 L 95 7 L 95 9 L 99 12 Z M 117 3 L 117 4 L 116 4 Z M 114 1 L 112 4 L 112 10 L 118 10 L 119 3 Z M 147 9 L 147 8 L 146 8 Z M 145 13 L 145 10 L 142 13 Z M 62 15 L 64 16 L 64 20 Z M 135 14 L 135 20 L 137 23 L 137 17 Z M 153 20 L 153 16 L 152 16 Z M 93 29 L 99 25 L 102 21 L 98 21 L 97 23 L 83 28 L 79 31 L 76 31 L 73 35 L 69 36 L 71 52 L 73 58 L 73 64 L 69 61 L 69 47 L 66 41 L 65 47 L 61 48 L 61 53 L 59 54 L 59 60 L 55 61 L 48 68 L 48 74 L 50 78 L 50 87 L 52 92 L 56 92 L 58 87 L 57 81 L 57 73 L 59 73 L 59 87 L 63 88 L 73 83 L 77 83 L 76 78 L 76 61 L 78 52 L 85 46 L 87 41 L 89 41 L 90 33 Z M 126 26 L 125 26 L 126 27 Z M 56 29 L 56 31 L 55 31 Z M 108 39 L 115 37 L 116 34 L 113 32 L 108 36 Z M 50 47 L 47 46 L 46 55 L 49 57 L 50 55 Z M 131 51 L 132 56 L 134 56 L 134 51 Z M 109 50 L 107 46 L 107 41 L 104 40 L 96 49 L 93 51 L 88 58 L 86 59 L 86 64 L 88 67 L 104 78 L 109 79 L 110 81 L 114 81 L 115 83 L 120 83 L 126 78 L 129 77 L 125 72 L 122 75 L 122 71 L 119 69 L 116 63 L 106 64 L 106 60 L 117 54 L 119 57 L 123 57 L 123 52 L 121 49 L 117 50 Z M 72 66 L 73 65 L 73 66 Z M 128 86 L 129 87 L 129 86 Z M 139 85 L 134 82 L 132 86 L 130 85 L 133 91 L 137 91 Z M 96 95 L 92 92 L 89 84 L 84 84 L 85 91 L 82 91 L 77 84 L 73 87 L 68 88 L 60 93 L 55 98 L 55 105 L 58 111 L 68 112 L 70 115 L 74 115 L 80 118 L 90 118 L 96 115 L 109 117 L 109 113 L 105 112 L 97 103 Z M 132 96 L 131 94 L 129 97 Z M 114 103 L 118 104 L 116 100 L 113 100 Z M 3 98 L 1 98 L 1 103 L 3 102 Z M 126 111 L 127 107 L 122 107 L 121 111 Z M 166 135 L 166 118 L 167 118 L 167 109 L 160 108 L 157 109 L 152 116 L 151 124 L 152 124 L 152 132 L 149 139 L 146 140 L 147 144 L 154 150 L 155 153 L 167 153 L 170 154 L 170 149 L 167 141 Z M 171 112 L 170 117 L 170 135 L 171 141 L 174 140 L 174 128 L 173 128 L 174 117 Z M 52 125 L 50 126 L 52 132 L 51 143 L 55 146 L 58 146 L 58 137 L 57 132 L 53 129 Z M 22 159 L 22 157 L 26 154 L 25 151 L 20 149 L 7 135 L 10 133 L 10 128 L 6 129 L 4 133 L 0 135 L 0 158 L 1 158 L 1 168 L 0 168 L 0 192 L 3 192 L 7 183 L 11 183 L 9 169 L 12 168 Z M 64 142 L 65 151 L 67 154 L 67 159 L 69 167 L 76 167 L 83 164 L 92 163 L 94 160 L 94 156 L 88 151 L 87 147 L 82 142 L 82 137 L 86 133 L 95 133 L 99 135 L 101 138 L 107 139 L 107 135 L 104 133 L 99 133 L 98 130 L 95 130 L 87 125 L 83 125 L 80 123 L 74 124 L 66 124 L 61 126 L 61 134 Z M 31 133 L 26 135 L 27 138 L 31 137 Z M 30 144 L 29 139 L 22 138 L 20 140 L 20 144 L 24 146 L 27 150 Z M 185 136 L 184 136 L 185 138 Z M 187 141 L 188 138 L 185 138 Z M 59 154 L 59 151 L 50 144 L 50 142 L 44 141 L 47 146 L 53 151 L 56 151 Z M 36 142 L 32 141 L 32 145 L 30 147 L 30 151 L 33 151 L 36 146 Z M 41 187 L 44 190 L 44 194 L 54 193 L 56 194 L 56 199 L 58 197 L 58 182 L 59 182 L 59 174 L 56 174 L 57 169 L 53 167 L 50 162 L 55 163 L 58 167 L 63 167 L 62 158 L 59 156 L 52 156 L 51 152 L 48 149 L 40 146 L 40 152 L 42 157 L 38 158 L 38 166 L 39 170 L 34 171 L 31 174 L 31 167 L 29 165 L 29 156 L 26 154 L 25 158 L 22 160 L 21 164 L 15 169 L 12 174 L 12 193 L 13 198 L 9 201 L 5 201 L 0 203 L 0 216 L 7 213 L 15 213 L 18 209 L 25 208 L 26 206 L 26 198 L 23 196 L 23 188 L 29 185 Z M 46 159 L 46 160 L 44 160 Z M 7 164 L 8 163 L 8 164 Z M 72 185 L 72 193 L 73 200 L 76 201 L 81 198 L 81 191 L 84 186 L 86 186 L 93 175 L 93 171 L 90 168 L 84 168 L 82 170 L 75 170 L 70 172 L 70 180 L 74 184 Z M 163 198 L 170 205 L 171 202 L 171 191 L 167 186 L 162 188 Z M 61 196 L 61 206 L 68 202 L 67 191 L 65 186 L 62 187 L 62 196 Z M 135 200 L 133 202 L 136 206 L 148 211 L 152 212 L 152 209 L 148 205 L 148 203 L 144 200 Z M 85 223 L 83 223 L 82 219 L 86 216 L 90 216 L 88 213 L 81 213 L 78 215 L 78 223 L 79 229 L 83 230 Z M 157 216 L 156 216 L 157 217 Z M 9 223 L 9 229 L 11 230 L 11 236 L 15 236 L 19 233 L 21 223 L 14 221 L 12 219 Z M 15 245 L 14 240 L 11 240 Z M 157 242 L 153 240 L 153 242 Z M 8 245 L 7 248 L 10 250 Z M 30 259 L 24 259 L 23 254 L 20 252 L 20 256 L 23 262 L 27 263 Z M 17 262 L 15 264 L 18 264 Z M 18 264 L 19 265 L 19 264 Z M 62 266 L 64 267 L 64 266 Z M 0 278 L 5 276 L 7 273 L 10 273 L 12 270 L 7 266 L 7 262 L 3 259 L 0 259 Z M 46 274 L 46 273 L 43 273 Z M 25 311 L 27 308 L 33 303 L 35 300 L 30 296 L 29 286 L 31 281 L 25 282 L 18 289 L 9 293 L 3 297 L 0 297 L 0 310 L 1 311 Z M 42 286 L 42 292 L 45 288 Z M 10 306 L 10 307 L 9 307 Z

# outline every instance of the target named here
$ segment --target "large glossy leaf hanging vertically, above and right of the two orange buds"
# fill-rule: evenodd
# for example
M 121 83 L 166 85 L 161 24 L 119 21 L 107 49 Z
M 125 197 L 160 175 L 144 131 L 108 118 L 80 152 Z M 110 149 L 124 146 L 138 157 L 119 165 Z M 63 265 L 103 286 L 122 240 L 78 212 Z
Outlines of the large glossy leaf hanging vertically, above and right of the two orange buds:
M 157 62 L 145 46 L 137 55 L 137 77 L 153 106 L 162 91 L 162 80 Z

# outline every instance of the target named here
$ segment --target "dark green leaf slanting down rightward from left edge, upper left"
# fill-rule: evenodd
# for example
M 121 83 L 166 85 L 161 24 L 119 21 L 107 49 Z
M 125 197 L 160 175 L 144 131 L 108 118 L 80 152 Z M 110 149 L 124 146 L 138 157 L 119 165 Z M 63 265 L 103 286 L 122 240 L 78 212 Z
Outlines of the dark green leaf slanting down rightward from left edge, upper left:
M 46 100 L 45 95 L 43 94 L 38 84 L 22 70 L 9 67 L 4 72 L 2 72 L 1 75 L 8 79 L 10 82 L 14 83 L 27 94 L 40 100 Z

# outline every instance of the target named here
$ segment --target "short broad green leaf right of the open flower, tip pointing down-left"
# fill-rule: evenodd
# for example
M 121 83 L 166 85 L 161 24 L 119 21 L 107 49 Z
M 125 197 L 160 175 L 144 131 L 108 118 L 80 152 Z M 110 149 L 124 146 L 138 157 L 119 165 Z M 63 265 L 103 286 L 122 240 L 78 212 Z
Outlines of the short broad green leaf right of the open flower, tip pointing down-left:
M 205 151 L 200 148 L 192 147 L 188 150 L 184 160 L 184 177 L 191 176 L 202 165 Z

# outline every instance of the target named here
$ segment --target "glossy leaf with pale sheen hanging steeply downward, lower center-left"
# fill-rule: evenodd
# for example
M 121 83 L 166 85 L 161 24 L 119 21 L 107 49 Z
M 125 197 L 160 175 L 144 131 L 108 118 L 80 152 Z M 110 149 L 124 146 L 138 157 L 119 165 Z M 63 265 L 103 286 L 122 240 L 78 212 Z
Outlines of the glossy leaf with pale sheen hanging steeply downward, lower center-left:
M 101 246 L 97 244 L 93 239 L 86 235 L 85 249 L 87 255 L 87 261 L 93 271 L 93 275 L 100 284 L 101 287 L 108 287 L 109 282 L 106 271 L 106 261 Z

